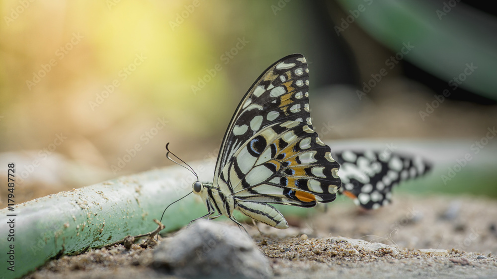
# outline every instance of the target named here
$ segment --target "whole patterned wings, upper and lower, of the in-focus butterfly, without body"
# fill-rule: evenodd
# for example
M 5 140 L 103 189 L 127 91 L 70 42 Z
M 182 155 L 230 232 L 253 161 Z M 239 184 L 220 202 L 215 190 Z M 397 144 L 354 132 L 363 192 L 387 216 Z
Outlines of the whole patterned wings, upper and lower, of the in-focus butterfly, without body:
M 240 103 L 214 176 L 239 204 L 260 211 L 265 203 L 313 207 L 335 199 L 339 164 L 313 130 L 308 84 L 305 58 L 290 55 L 265 70 Z

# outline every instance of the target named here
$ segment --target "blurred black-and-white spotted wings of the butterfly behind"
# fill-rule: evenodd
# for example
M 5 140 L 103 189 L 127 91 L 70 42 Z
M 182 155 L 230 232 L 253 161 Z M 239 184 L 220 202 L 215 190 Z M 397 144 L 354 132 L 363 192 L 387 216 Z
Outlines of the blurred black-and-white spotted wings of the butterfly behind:
M 334 153 L 340 163 L 339 193 L 365 209 L 377 209 L 391 202 L 392 188 L 421 176 L 431 169 L 420 157 L 393 152 L 351 151 Z

